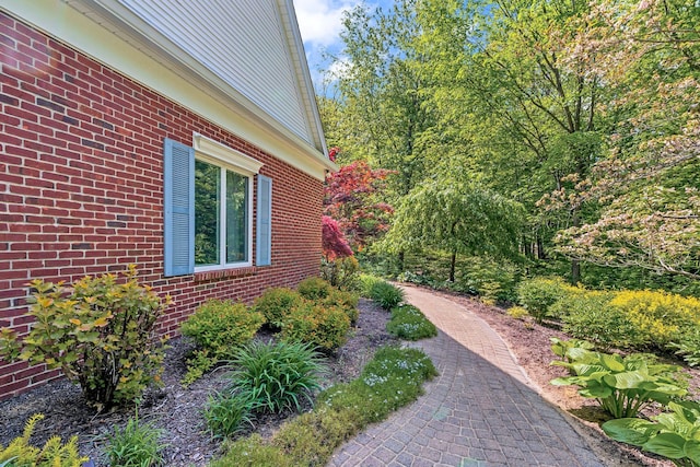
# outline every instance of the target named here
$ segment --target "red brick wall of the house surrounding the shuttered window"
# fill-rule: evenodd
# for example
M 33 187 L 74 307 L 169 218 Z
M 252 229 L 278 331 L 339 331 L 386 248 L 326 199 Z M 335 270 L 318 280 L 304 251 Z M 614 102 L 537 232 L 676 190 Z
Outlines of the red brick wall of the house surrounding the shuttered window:
M 176 335 L 208 299 L 249 302 L 318 273 L 320 182 L 2 13 L 0 65 L 0 327 L 27 330 L 32 279 L 135 262 L 142 282 L 173 296 L 160 331 Z M 195 131 L 265 164 L 271 266 L 163 277 L 163 140 L 191 144 Z M 0 362 L 0 399 L 56 376 Z

